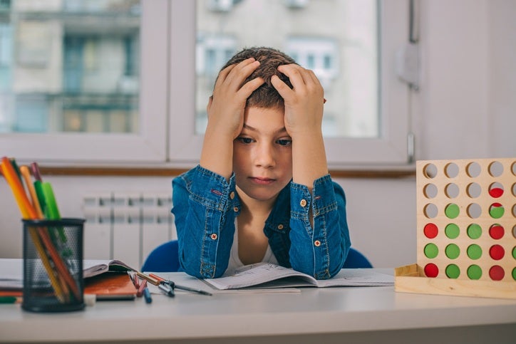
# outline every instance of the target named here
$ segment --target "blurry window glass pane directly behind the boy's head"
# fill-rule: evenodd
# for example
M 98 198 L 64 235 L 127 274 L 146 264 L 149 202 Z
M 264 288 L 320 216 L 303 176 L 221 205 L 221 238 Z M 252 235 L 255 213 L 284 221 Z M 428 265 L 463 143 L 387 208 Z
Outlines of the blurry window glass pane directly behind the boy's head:
M 195 132 L 218 71 L 249 46 L 279 48 L 324 86 L 325 137 L 380 137 L 376 0 L 197 0 Z

